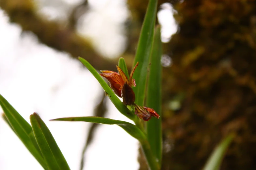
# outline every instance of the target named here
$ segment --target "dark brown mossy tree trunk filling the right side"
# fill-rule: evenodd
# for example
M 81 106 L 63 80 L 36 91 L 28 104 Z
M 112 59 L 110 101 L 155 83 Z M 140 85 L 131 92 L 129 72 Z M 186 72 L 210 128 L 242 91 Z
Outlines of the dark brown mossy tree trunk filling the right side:
M 256 1 L 185 0 L 165 45 L 162 169 L 201 169 L 235 132 L 221 169 L 256 169 Z M 180 97 L 183 96 L 183 97 Z M 170 102 L 181 104 L 171 110 Z

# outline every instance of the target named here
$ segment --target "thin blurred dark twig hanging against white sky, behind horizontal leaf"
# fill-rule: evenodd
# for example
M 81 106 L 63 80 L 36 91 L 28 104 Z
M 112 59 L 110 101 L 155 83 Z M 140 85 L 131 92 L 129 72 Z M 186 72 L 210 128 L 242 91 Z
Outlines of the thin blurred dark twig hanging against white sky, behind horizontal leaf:
M 106 96 L 105 96 L 105 93 L 103 93 L 103 95 L 101 96 L 101 102 L 94 109 L 93 116 L 98 116 L 98 117 L 104 117 L 105 116 L 106 111 L 107 111 L 106 100 L 105 99 L 106 99 Z M 95 132 L 96 128 L 99 125 L 100 124 L 98 124 L 98 123 L 91 123 L 91 127 L 90 127 L 89 132 L 88 132 L 87 140 L 86 140 L 84 149 L 82 151 L 80 170 L 82 170 L 83 167 L 84 167 L 84 164 L 85 164 L 85 152 L 86 152 L 88 146 L 91 144 L 91 142 L 93 140 L 93 137 L 94 137 L 94 132 Z

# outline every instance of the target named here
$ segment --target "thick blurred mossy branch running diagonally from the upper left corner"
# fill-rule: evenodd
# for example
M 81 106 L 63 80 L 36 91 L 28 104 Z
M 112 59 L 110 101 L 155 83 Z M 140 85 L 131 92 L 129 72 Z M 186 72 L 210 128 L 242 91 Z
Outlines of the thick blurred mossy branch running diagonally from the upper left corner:
M 90 40 L 78 35 L 56 21 L 48 21 L 36 10 L 33 0 L 0 0 L 0 7 L 8 14 L 10 22 L 17 23 L 23 31 L 31 31 L 45 45 L 66 51 L 77 58 L 85 58 L 98 70 L 115 70 L 118 60 L 107 60 L 93 50 Z

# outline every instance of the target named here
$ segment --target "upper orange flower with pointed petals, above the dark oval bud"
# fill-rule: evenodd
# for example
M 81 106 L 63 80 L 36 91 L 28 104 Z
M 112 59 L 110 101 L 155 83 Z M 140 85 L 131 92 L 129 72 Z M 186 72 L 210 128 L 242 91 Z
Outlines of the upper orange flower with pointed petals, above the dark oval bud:
M 138 64 L 139 63 L 137 62 L 137 64 L 135 65 L 135 67 L 133 68 L 133 70 L 130 74 L 129 79 L 126 77 L 126 75 L 124 74 L 124 72 L 121 70 L 121 68 L 119 66 L 117 66 L 117 70 L 119 73 L 114 72 L 114 71 L 101 71 L 102 73 L 100 75 L 109 81 L 111 89 L 119 97 L 123 97 L 121 91 L 125 84 L 127 84 L 127 85 L 125 85 L 125 90 L 124 90 L 125 92 L 131 92 L 131 91 L 133 92 L 131 87 L 136 86 L 135 79 L 133 79 L 132 77 L 133 77 L 133 73 L 134 73 L 136 67 L 138 66 Z M 123 92 L 123 95 L 126 95 L 125 92 Z M 127 93 L 127 95 L 129 95 L 129 94 Z M 127 97 L 125 96 L 125 98 L 127 98 Z M 134 95 L 134 100 L 135 100 L 135 95 Z M 128 104 L 130 104 L 130 102 Z

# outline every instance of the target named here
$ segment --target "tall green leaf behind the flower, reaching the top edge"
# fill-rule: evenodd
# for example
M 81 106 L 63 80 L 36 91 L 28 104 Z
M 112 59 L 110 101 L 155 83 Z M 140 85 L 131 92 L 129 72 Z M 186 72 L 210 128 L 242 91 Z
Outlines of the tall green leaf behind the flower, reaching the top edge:
M 145 99 L 146 80 L 148 74 L 148 65 L 150 60 L 150 53 L 153 44 L 154 26 L 156 19 L 157 0 L 150 0 L 148 9 L 142 25 L 134 65 L 139 62 L 133 78 L 136 81 L 135 103 L 143 106 Z

